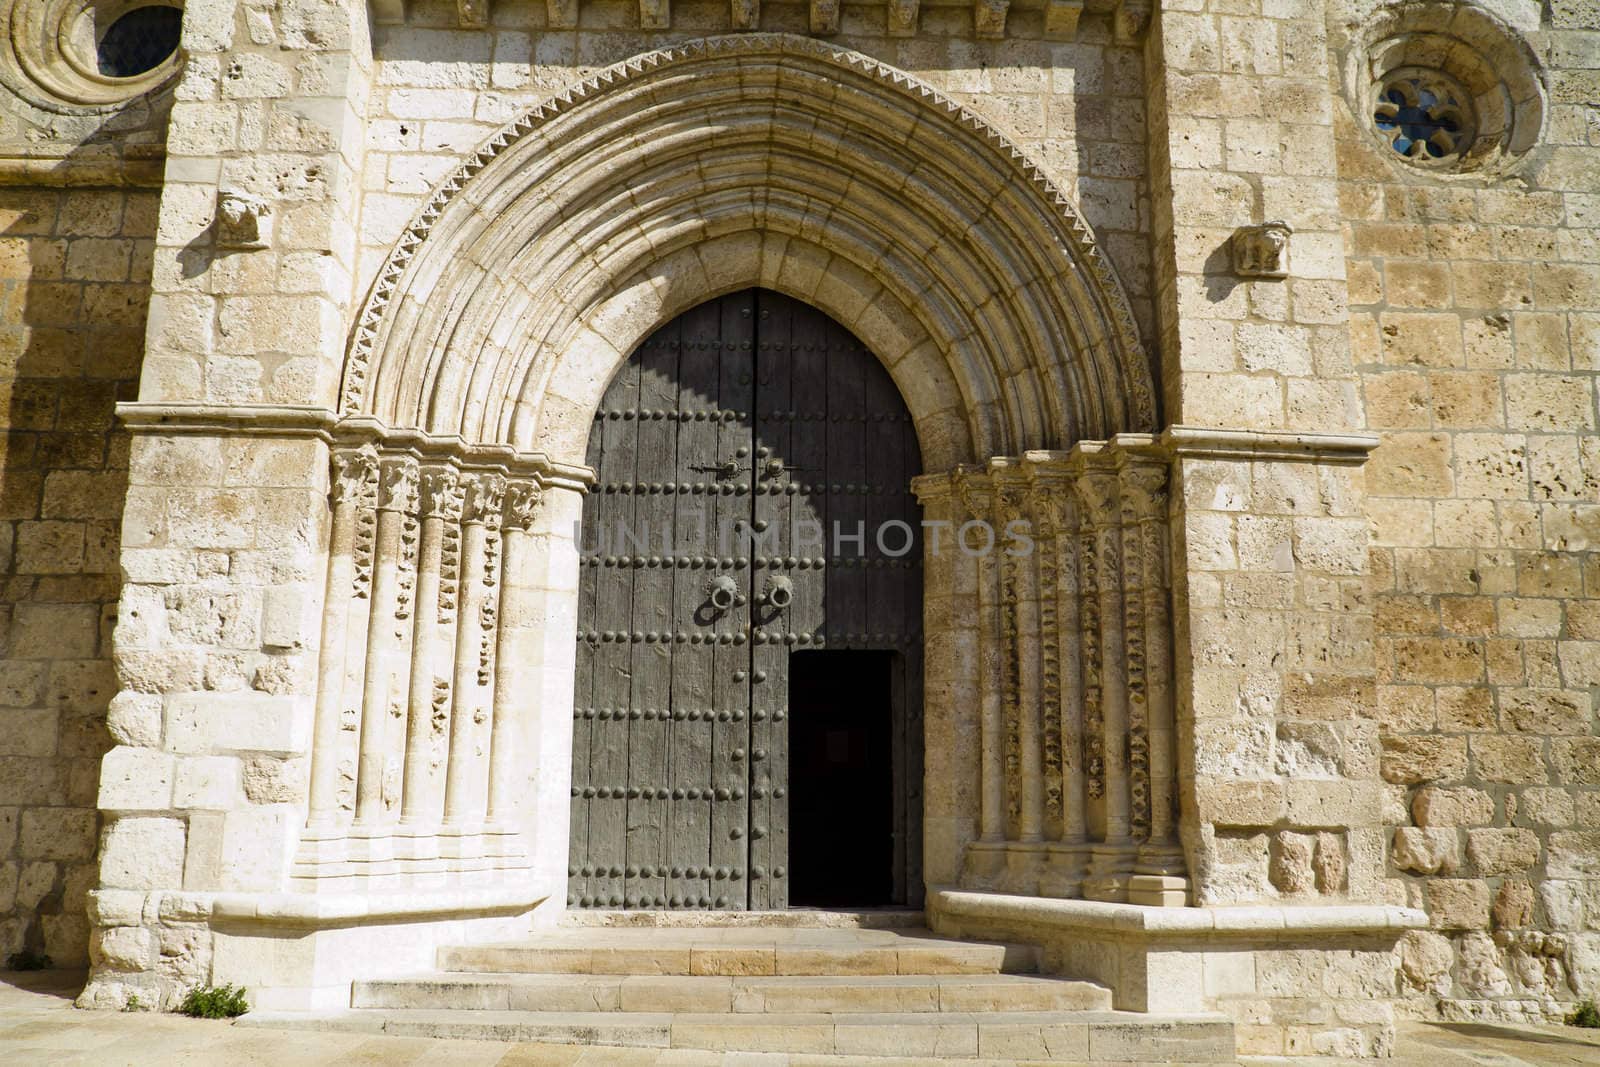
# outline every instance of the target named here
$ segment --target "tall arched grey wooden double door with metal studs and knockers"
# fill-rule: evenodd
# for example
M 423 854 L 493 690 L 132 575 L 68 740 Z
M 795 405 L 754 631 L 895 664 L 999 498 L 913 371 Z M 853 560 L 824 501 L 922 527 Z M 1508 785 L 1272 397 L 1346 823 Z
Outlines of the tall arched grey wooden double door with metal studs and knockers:
M 618 371 L 587 462 L 568 904 L 920 904 L 920 461 L 877 358 L 710 301 Z

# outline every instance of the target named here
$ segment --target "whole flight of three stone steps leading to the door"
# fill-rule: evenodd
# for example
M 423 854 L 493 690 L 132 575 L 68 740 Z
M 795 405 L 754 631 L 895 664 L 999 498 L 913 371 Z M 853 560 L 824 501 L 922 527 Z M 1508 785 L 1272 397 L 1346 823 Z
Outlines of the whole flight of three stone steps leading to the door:
M 762 1062 L 1235 1062 L 1234 1027 L 1221 1016 L 1112 1011 L 1102 985 L 1037 974 L 1029 945 L 949 941 L 915 926 L 718 918 L 677 925 L 683 917 L 664 915 L 643 926 L 634 915 L 618 925 L 590 917 L 528 942 L 443 949 L 437 973 L 357 982 L 349 1011 L 242 1022 L 699 1049 L 699 1062 L 720 1053 L 779 1054 Z

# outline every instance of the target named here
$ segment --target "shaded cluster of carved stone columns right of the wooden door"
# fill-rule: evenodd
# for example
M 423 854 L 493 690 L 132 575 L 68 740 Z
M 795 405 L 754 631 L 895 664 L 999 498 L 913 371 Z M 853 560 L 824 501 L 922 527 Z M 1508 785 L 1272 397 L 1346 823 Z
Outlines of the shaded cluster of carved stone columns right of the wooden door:
M 1168 461 L 1146 435 L 914 483 L 978 589 L 979 838 L 963 885 L 1181 904 Z M 954 577 L 957 584 L 963 579 Z

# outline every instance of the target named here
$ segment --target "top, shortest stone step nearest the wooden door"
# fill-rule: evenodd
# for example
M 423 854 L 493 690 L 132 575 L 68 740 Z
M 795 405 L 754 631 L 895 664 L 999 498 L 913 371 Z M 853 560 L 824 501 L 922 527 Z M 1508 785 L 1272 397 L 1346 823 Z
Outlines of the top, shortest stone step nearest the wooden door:
M 552 929 L 538 941 L 446 947 L 442 971 L 518 974 L 1032 974 L 1034 945 L 925 929 Z

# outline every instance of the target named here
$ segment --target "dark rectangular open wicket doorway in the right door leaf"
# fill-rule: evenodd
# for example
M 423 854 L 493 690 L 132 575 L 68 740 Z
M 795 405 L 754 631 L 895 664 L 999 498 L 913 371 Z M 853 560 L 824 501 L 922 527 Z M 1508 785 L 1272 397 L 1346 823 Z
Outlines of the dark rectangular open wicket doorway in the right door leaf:
M 901 686 L 891 651 L 789 661 L 789 904 L 894 904 L 894 752 Z

